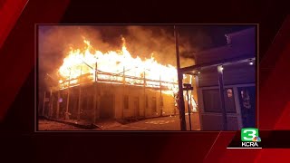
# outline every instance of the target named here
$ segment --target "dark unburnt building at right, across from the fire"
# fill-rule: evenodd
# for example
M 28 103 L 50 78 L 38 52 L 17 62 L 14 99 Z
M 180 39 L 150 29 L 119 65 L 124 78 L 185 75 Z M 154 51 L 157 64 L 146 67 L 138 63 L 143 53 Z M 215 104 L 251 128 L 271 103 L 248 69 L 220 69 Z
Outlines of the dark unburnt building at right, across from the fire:
M 252 56 L 254 60 L 223 65 L 227 129 L 256 126 L 256 29 L 248 28 L 226 36 L 227 45 L 196 54 L 196 63 L 205 65 L 205 68 L 195 70 L 202 130 L 223 129 L 218 64 L 207 66 L 208 63 L 229 61 L 243 56 Z

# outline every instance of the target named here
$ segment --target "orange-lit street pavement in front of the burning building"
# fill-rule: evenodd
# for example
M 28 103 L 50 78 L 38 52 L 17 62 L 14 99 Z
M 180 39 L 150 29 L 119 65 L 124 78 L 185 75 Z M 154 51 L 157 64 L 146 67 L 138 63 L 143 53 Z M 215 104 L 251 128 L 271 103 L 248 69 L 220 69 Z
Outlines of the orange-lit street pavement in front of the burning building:
M 191 130 L 199 130 L 198 113 L 192 113 Z M 189 115 L 186 115 L 187 129 L 189 130 Z M 73 122 L 73 121 L 72 121 Z M 39 120 L 39 130 L 180 130 L 179 115 L 150 118 L 130 123 L 121 123 L 118 120 L 102 120 L 95 124 L 98 128 L 84 129 L 69 123 L 51 120 Z

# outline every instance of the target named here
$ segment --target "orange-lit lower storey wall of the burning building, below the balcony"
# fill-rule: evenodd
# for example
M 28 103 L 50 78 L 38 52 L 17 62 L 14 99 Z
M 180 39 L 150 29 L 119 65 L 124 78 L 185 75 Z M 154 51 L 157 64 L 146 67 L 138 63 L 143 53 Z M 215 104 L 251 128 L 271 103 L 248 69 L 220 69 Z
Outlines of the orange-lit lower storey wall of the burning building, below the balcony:
M 174 95 L 160 88 L 108 82 L 94 85 L 92 82 L 51 94 L 47 95 L 50 100 L 44 102 L 43 115 L 56 120 L 65 119 L 67 111 L 70 120 L 87 121 L 140 119 L 178 113 Z

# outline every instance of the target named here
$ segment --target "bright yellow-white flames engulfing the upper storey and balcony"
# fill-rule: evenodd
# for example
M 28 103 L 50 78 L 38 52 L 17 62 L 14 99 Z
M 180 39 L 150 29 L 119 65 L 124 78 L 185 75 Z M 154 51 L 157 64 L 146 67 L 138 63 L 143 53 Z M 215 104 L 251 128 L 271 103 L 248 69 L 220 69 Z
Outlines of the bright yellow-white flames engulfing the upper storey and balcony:
M 133 58 L 125 38 L 121 40 L 121 50 L 107 53 L 95 50 L 88 40 L 83 40 L 84 50 L 72 48 L 58 70 L 60 88 L 96 81 L 162 87 L 166 88 L 162 92 L 167 94 L 178 91 L 178 72 L 174 66 L 160 64 L 154 59 L 154 53 L 150 59 Z

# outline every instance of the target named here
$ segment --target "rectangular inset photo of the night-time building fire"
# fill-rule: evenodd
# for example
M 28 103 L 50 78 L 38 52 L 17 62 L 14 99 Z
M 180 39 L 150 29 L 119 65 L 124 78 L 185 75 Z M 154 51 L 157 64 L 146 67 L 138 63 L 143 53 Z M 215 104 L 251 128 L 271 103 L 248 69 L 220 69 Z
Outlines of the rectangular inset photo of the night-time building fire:
M 37 131 L 256 127 L 256 24 L 37 25 Z

